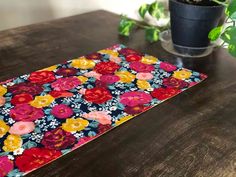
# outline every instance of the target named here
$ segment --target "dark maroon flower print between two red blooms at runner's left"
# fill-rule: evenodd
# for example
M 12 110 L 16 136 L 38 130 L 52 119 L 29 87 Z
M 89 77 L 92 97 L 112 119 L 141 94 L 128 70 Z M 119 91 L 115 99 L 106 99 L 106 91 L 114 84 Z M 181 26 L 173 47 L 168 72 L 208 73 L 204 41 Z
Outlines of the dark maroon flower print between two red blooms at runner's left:
M 8 87 L 8 91 L 13 95 L 18 95 L 22 93 L 27 93 L 30 95 L 38 95 L 43 91 L 43 87 L 38 84 L 33 84 L 29 82 L 22 82 L 19 84 L 15 84 L 13 86 Z

